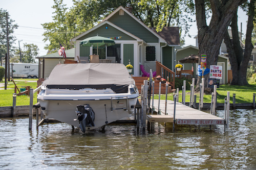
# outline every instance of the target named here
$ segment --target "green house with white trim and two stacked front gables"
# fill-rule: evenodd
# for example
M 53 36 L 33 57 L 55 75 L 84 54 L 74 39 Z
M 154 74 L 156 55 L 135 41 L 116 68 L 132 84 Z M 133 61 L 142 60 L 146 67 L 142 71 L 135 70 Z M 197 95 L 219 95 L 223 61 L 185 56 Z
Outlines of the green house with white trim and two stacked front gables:
M 71 39 L 75 42 L 75 60 L 88 59 L 96 54 L 97 47 L 81 46 L 80 41 L 92 36 L 108 37 L 115 45 L 99 47 L 100 59 L 112 59 L 117 63 L 134 66 L 132 74 L 140 76 L 140 64 L 146 71 L 156 70 L 156 61 L 175 70 L 175 48 L 180 46 L 179 28 L 164 27 L 159 33 L 123 7 L 103 19 L 97 26 Z M 78 56 L 78 57 L 77 57 Z

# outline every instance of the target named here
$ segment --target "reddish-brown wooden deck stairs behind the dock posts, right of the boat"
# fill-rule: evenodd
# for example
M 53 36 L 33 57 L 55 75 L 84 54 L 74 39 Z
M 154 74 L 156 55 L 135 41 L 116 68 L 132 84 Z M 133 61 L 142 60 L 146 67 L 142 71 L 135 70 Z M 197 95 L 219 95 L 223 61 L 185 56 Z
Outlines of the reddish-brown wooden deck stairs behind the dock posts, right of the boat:
M 139 93 L 141 93 L 141 85 L 143 84 L 144 80 L 147 80 L 148 77 L 133 77 L 135 80 L 135 84 L 139 90 Z M 153 78 L 155 81 L 155 87 L 154 87 L 154 93 L 159 94 L 159 82 L 160 80 L 157 80 L 155 77 Z M 168 93 L 174 92 L 175 89 L 172 89 L 172 86 L 168 87 Z M 165 83 L 161 86 L 161 94 L 165 94 Z

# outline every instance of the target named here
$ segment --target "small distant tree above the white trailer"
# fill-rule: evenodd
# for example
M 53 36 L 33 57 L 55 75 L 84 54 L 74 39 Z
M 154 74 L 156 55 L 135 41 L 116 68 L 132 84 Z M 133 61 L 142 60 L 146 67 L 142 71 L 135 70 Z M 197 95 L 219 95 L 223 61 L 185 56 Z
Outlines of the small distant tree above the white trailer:
M 35 63 L 35 57 L 38 57 L 39 48 L 35 44 L 25 43 L 22 51 L 22 61 L 24 63 Z

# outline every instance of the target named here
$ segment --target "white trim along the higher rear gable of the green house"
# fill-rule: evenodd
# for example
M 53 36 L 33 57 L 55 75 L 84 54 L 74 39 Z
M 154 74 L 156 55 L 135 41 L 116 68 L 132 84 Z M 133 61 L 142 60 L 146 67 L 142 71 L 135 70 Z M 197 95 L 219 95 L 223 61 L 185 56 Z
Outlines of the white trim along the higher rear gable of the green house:
M 158 39 L 159 42 L 165 42 L 165 40 L 158 35 L 155 31 L 153 31 L 152 29 L 150 29 L 149 27 L 147 27 L 145 25 L 145 23 L 141 22 L 137 17 L 135 17 L 133 14 L 131 14 L 129 11 L 127 11 L 125 8 L 123 8 L 122 6 L 118 7 L 114 12 L 112 12 L 109 16 L 105 17 L 105 19 L 103 19 L 101 22 L 104 22 L 105 20 L 108 20 L 109 18 L 111 18 L 115 13 L 117 13 L 120 9 L 122 9 L 124 12 L 126 12 L 128 15 L 130 15 L 134 20 L 136 20 L 138 23 L 140 23 L 141 26 L 143 26 L 144 28 L 146 28 L 148 31 L 150 31 L 152 34 L 154 34 Z M 100 23 L 101 23 L 100 22 Z

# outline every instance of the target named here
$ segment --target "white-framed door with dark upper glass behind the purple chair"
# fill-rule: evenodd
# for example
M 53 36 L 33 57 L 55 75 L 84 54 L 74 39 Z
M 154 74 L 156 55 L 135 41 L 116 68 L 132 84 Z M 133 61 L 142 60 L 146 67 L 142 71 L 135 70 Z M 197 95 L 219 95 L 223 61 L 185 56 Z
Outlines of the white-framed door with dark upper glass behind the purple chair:
M 147 72 L 156 71 L 156 46 L 146 46 L 144 69 Z

